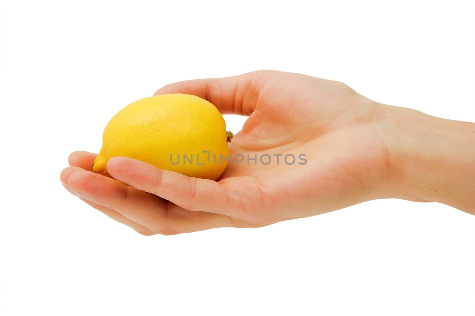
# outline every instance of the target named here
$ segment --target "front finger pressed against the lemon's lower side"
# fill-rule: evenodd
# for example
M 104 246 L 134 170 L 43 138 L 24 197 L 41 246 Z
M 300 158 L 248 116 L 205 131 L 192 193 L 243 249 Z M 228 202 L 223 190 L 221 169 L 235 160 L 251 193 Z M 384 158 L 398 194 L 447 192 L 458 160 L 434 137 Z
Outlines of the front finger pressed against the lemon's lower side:
M 119 181 L 192 211 L 242 218 L 244 210 L 259 208 L 259 201 L 254 199 L 258 190 L 254 193 L 252 185 L 241 183 L 240 178 L 235 178 L 234 181 L 237 182 L 232 185 L 223 184 L 158 169 L 151 164 L 127 157 L 109 159 L 107 170 Z M 250 180 L 251 177 L 244 181 Z M 252 193 L 249 194 L 250 192 Z

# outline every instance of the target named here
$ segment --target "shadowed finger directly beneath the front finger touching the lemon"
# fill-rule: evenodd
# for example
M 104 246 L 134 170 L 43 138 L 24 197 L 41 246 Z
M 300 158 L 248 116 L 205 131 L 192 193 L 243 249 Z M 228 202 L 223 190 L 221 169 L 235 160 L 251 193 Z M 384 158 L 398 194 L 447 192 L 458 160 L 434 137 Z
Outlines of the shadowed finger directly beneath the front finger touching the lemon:
M 229 217 L 186 211 L 155 195 L 94 172 L 75 171 L 69 176 L 68 185 L 80 198 L 110 208 L 162 235 L 234 226 Z

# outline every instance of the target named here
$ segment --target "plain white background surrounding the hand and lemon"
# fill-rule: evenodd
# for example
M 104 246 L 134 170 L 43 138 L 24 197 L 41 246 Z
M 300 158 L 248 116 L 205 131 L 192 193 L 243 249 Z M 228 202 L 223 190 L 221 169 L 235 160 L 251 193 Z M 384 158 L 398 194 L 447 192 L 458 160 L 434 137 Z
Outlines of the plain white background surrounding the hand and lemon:
M 301 72 L 475 121 L 473 1 L 121 2 L 1 1 L 1 315 L 474 315 L 475 217 L 445 205 L 145 237 L 59 181 L 186 79 Z

